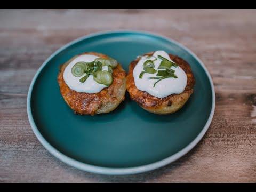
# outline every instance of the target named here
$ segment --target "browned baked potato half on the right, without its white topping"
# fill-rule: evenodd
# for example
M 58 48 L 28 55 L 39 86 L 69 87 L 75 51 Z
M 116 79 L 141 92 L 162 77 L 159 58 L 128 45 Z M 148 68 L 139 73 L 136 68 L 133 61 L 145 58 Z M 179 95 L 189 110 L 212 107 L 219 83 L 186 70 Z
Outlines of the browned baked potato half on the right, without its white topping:
M 153 53 L 154 52 L 150 52 L 145 55 L 153 55 Z M 175 111 L 179 110 L 187 102 L 190 95 L 193 93 L 193 87 L 195 85 L 195 78 L 189 64 L 178 56 L 171 54 L 169 54 L 169 56 L 185 71 L 188 77 L 187 86 L 185 90 L 180 94 L 171 94 L 165 98 L 157 98 L 153 95 L 150 95 L 146 91 L 141 91 L 137 89 L 134 83 L 133 69 L 139 62 L 139 59 L 131 62 L 129 66 L 129 72 L 126 77 L 126 89 L 129 92 L 131 99 L 137 102 L 139 106 L 141 106 L 143 109 L 159 115 L 172 114 Z

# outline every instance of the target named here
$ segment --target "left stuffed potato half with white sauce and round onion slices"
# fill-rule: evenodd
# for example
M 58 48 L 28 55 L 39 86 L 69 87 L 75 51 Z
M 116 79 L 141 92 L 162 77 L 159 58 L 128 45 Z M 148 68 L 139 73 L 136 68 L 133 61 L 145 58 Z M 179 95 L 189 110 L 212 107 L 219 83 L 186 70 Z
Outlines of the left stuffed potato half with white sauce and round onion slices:
M 63 99 L 76 114 L 109 113 L 123 100 L 126 74 L 113 58 L 96 52 L 76 55 L 58 74 Z

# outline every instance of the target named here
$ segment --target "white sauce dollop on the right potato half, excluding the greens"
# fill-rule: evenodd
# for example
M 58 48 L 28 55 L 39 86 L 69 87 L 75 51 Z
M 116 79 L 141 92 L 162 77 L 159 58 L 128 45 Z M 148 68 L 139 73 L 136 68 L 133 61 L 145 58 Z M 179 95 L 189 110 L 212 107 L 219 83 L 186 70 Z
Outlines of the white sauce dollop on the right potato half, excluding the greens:
M 155 65 L 154 69 L 156 69 L 156 70 L 158 70 L 157 68 L 162 61 L 162 59 L 159 59 L 157 57 L 157 55 L 161 55 L 162 57 L 172 61 L 170 59 L 169 55 L 165 51 L 154 52 L 153 56 L 157 58 L 157 60 L 154 61 L 154 65 Z M 175 70 L 174 74 L 178 78 L 162 79 L 155 85 L 155 87 L 153 87 L 154 83 L 158 79 L 149 79 L 149 77 L 159 77 L 159 76 L 156 76 L 157 73 L 155 73 L 155 74 L 145 73 L 141 79 L 139 78 L 141 71 L 144 71 L 143 63 L 149 59 L 154 60 L 155 59 L 154 57 L 151 57 L 151 58 L 142 57 L 140 59 L 140 61 L 137 63 L 137 65 L 135 66 L 135 68 L 133 70 L 133 77 L 134 77 L 134 82 L 135 82 L 135 86 L 137 87 L 137 89 L 139 89 L 141 91 L 146 91 L 150 95 L 153 95 L 158 98 L 164 98 L 171 94 L 182 93 L 187 86 L 187 75 L 186 75 L 185 71 L 183 71 L 183 69 L 181 69 L 179 66 L 171 67 L 171 69 Z M 160 69 L 160 70 L 163 70 L 163 69 Z

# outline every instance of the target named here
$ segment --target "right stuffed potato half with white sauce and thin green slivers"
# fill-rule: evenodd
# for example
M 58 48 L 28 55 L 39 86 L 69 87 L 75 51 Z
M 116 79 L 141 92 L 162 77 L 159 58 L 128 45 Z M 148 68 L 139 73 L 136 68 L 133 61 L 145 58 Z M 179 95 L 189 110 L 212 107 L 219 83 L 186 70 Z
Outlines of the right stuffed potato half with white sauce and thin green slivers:
M 137 57 L 130 63 L 126 79 L 131 99 L 160 115 L 179 110 L 193 93 L 195 84 L 189 64 L 165 51 Z

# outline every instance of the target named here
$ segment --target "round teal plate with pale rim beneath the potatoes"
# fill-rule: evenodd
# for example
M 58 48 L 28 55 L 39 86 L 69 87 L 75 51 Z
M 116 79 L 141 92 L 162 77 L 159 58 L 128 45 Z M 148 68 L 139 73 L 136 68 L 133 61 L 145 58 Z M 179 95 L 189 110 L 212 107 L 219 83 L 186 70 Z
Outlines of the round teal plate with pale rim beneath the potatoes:
M 129 98 L 109 114 L 75 115 L 63 100 L 59 66 L 76 54 L 95 51 L 127 71 L 137 55 L 155 50 L 178 55 L 191 66 L 194 93 L 177 113 L 151 114 Z M 108 31 L 79 38 L 53 53 L 38 69 L 28 91 L 30 125 L 42 145 L 61 161 L 101 174 L 133 174 L 156 169 L 185 155 L 201 140 L 215 108 L 212 79 L 185 46 L 142 31 Z

